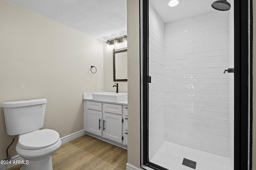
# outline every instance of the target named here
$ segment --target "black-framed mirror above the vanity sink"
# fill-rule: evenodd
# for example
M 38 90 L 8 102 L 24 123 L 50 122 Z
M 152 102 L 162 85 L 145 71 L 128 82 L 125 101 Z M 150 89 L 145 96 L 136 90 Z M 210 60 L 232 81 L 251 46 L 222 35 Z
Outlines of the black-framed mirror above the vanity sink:
M 127 49 L 113 49 L 114 82 L 127 82 Z

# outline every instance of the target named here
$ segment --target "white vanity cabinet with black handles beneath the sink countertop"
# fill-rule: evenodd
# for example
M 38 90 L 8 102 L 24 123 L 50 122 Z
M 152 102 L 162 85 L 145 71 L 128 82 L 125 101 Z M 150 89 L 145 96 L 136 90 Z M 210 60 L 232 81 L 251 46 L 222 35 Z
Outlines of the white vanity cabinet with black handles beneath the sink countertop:
M 85 101 L 85 131 L 120 145 L 127 146 L 127 106 L 106 102 Z

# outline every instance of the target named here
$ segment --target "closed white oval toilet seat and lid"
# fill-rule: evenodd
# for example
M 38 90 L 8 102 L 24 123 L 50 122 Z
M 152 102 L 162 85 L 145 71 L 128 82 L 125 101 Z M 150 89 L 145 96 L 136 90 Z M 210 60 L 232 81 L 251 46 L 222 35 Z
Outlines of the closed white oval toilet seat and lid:
M 58 132 L 42 129 L 20 136 L 18 145 L 22 149 L 38 150 L 54 145 L 60 139 Z

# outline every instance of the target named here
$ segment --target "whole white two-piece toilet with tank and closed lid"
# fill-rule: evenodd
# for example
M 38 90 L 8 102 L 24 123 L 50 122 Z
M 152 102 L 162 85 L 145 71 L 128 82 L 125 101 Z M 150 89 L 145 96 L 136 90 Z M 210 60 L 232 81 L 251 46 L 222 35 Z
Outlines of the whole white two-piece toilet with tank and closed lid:
M 52 170 L 52 154 L 60 147 L 58 132 L 44 126 L 46 99 L 4 102 L 8 135 L 19 135 L 16 151 L 27 164 L 20 170 Z

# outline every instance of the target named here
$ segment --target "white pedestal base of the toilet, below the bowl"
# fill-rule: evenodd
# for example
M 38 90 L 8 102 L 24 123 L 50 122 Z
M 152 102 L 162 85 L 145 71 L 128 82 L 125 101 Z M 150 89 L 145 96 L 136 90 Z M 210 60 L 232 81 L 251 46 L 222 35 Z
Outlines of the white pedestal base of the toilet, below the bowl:
M 52 156 L 46 156 L 41 160 L 28 160 L 28 164 L 23 165 L 20 170 L 53 170 Z

